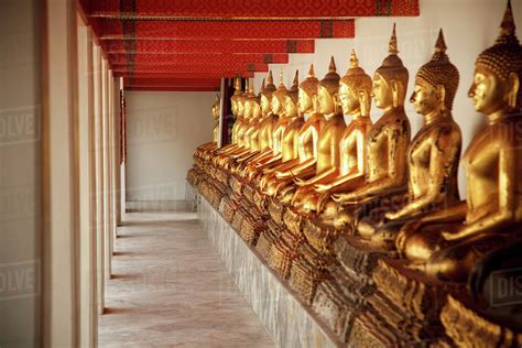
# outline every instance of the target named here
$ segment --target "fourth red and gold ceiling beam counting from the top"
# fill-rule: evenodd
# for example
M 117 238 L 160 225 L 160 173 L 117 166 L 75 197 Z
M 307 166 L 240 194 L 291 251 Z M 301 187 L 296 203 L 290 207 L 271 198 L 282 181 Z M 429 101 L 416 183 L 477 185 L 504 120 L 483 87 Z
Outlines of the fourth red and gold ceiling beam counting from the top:
M 128 54 L 109 54 L 111 64 L 127 64 Z M 176 64 L 286 64 L 287 54 L 137 54 L 132 57 L 134 66 L 176 65 Z

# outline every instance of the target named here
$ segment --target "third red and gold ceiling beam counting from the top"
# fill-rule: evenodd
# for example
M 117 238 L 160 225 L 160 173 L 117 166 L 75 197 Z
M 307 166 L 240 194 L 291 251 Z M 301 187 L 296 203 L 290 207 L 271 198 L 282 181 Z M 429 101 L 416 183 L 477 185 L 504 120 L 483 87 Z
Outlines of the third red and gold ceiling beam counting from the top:
M 188 53 L 314 53 L 314 40 L 102 40 L 106 53 L 188 54 Z

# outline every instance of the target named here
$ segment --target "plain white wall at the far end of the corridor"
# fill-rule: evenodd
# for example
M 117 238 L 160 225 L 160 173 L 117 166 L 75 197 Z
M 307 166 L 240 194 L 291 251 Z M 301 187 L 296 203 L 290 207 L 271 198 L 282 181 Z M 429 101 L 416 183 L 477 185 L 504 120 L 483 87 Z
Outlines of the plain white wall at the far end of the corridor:
M 194 149 L 213 139 L 215 93 L 127 91 L 127 200 L 184 200 Z

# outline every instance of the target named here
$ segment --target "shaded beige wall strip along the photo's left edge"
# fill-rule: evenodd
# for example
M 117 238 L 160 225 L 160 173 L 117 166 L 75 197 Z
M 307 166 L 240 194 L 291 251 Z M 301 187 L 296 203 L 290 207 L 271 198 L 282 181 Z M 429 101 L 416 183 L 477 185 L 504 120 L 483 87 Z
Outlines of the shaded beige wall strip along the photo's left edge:
M 0 1 L 1 347 L 37 346 L 41 335 L 39 3 Z

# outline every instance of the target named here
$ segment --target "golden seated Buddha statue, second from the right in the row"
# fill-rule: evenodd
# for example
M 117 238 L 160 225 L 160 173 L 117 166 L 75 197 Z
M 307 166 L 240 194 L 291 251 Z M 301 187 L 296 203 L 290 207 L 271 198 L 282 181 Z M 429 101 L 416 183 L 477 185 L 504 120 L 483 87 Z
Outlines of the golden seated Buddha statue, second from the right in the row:
M 410 99 L 425 123 L 407 150 L 407 200 L 382 219 L 367 218 L 358 224 L 366 236 L 377 231 L 371 237 L 376 247 L 393 249 L 394 238 L 405 222 L 459 202 L 457 174 L 463 137 L 452 116 L 458 79 L 441 30 L 435 53 L 420 68 Z

